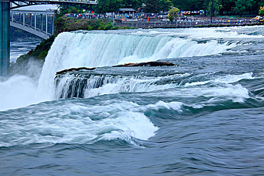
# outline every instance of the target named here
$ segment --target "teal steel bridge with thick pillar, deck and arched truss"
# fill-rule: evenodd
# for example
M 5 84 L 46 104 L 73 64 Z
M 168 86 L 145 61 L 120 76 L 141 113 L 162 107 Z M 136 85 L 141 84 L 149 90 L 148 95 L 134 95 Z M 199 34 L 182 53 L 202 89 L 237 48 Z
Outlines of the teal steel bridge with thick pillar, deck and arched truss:
M 54 31 L 52 29 L 52 33 L 48 33 L 48 25 L 47 25 L 47 17 L 48 15 L 53 15 L 52 24 L 54 21 L 54 13 L 53 14 L 46 14 L 42 13 L 46 16 L 46 30 L 43 30 L 43 21 L 41 23 L 41 29 L 37 28 L 36 23 L 36 15 L 40 14 L 41 12 L 26 12 L 26 11 L 15 11 L 13 9 L 20 8 L 20 7 L 27 7 L 27 6 L 34 6 L 34 5 L 71 5 L 71 6 L 80 6 L 83 9 L 89 9 L 92 5 L 97 5 L 97 0 L 0 0 L 0 76 L 6 76 L 7 71 L 10 65 L 10 26 L 14 26 L 25 31 L 34 33 L 37 36 L 42 38 L 47 38 L 51 35 Z M 12 11 L 11 11 L 12 10 Z M 14 14 L 19 13 L 23 15 L 23 23 L 14 20 Z M 33 14 L 34 15 L 34 26 L 32 26 L 32 15 L 31 15 L 31 24 L 28 25 L 25 23 L 25 15 L 26 14 Z M 10 19 L 11 16 L 11 19 Z M 11 20 L 11 21 L 10 21 Z

